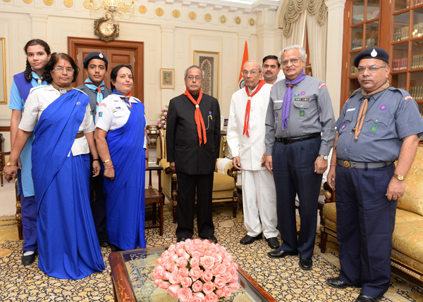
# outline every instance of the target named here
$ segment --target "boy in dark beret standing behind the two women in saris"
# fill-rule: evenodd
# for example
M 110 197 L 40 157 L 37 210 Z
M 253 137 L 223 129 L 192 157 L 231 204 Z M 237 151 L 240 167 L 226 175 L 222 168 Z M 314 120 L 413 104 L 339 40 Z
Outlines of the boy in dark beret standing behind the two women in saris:
M 104 77 L 106 77 L 109 62 L 104 54 L 93 51 L 85 57 L 83 64 L 87 72 L 87 80 L 76 89 L 80 89 L 87 96 L 90 96 L 90 108 L 95 123 L 97 107 L 106 96 L 111 94 L 111 89 L 104 85 Z M 106 196 L 103 193 L 103 182 L 102 173 L 97 177 L 91 177 L 90 204 L 100 246 L 109 246 L 106 236 Z

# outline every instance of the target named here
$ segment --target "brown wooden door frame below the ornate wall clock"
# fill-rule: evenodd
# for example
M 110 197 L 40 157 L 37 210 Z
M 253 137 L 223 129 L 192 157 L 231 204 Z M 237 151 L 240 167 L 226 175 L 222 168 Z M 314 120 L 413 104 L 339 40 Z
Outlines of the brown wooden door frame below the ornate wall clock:
M 111 41 L 104 42 L 100 39 L 68 37 L 68 54 L 72 58 L 77 58 L 78 47 L 101 47 L 103 49 L 125 49 L 135 52 L 135 70 L 139 70 L 139 74 L 135 75 L 134 85 L 140 88 L 140 95 L 136 97 L 144 103 L 144 42 L 133 41 Z M 78 58 L 79 59 L 79 58 Z M 80 58 L 82 60 L 82 58 Z M 79 60 L 77 60 L 79 61 Z

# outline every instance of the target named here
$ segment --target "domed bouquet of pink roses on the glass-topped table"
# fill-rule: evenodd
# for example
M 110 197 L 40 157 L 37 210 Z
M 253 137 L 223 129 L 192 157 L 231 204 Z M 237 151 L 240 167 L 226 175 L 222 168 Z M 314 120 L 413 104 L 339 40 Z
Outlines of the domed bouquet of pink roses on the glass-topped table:
M 161 254 L 152 277 L 157 287 L 181 302 L 216 302 L 238 290 L 237 270 L 223 246 L 187 239 Z

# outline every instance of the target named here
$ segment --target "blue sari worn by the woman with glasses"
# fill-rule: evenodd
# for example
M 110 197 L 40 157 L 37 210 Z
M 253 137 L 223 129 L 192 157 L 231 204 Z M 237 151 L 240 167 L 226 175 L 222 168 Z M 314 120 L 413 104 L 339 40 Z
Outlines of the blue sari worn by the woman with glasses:
M 90 158 L 68 157 L 89 102 L 75 89 L 59 96 L 42 112 L 34 131 L 38 267 L 61 279 L 104 270 L 90 208 Z

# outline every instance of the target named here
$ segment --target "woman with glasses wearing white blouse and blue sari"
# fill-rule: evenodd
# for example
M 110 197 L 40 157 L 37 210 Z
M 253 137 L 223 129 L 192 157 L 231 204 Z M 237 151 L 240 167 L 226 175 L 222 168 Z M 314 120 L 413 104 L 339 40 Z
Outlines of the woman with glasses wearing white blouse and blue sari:
M 32 179 L 37 203 L 38 267 L 51 277 L 81 279 L 104 270 L 90 208 L 90 157 L 99 175 L 90 98 L 73 89 L 78 66 L 67 54 L 51 55 L 13 143 L 6 180 L 16 177 L 18 156 L 32 131 Z

